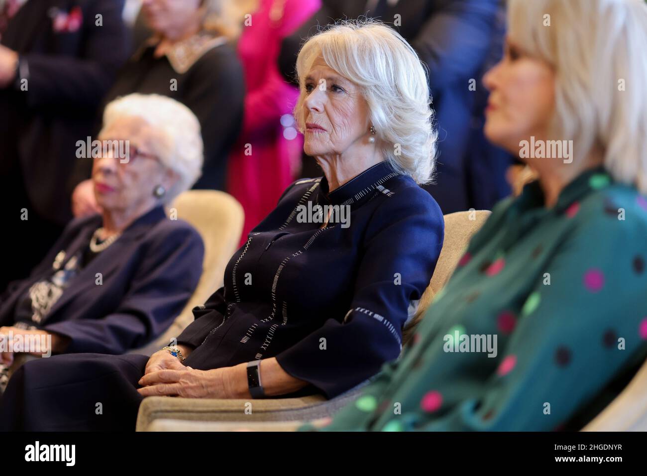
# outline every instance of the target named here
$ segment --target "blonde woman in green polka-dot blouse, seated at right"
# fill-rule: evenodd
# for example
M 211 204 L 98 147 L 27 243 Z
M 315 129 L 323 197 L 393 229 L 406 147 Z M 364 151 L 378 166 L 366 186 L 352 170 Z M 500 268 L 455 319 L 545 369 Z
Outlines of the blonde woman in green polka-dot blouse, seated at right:
M 538 181 L 493 210 L 400 359 L 318 427 L 579 429 L 617 394 L 647 356 L 645 45 L 639 0 L 509 1 L 485 132 Z

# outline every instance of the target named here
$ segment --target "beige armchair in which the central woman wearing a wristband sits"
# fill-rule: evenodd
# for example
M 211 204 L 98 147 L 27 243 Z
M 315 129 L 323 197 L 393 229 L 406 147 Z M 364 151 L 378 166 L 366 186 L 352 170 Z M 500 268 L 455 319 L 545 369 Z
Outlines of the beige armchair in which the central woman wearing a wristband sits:
M 404 342 L 410 338 L 415 324 L 422 319 L 433 300 L 433 295 L 443 288 L 450 278 L 472 235 L 483 225 L 489 214 L 487 210 L 477 210 L 456 212 L 444 217 L 443 250 L 430 286 L 422 295 L 411 323 L 404 330 Z M 326 400 L 320 395 L 269 400 L 196 400 L 153 396 L 145 398 L 140 405 L 137 431 L 225 431 L 235 427 L 248 427 L 248 424 L 253 427 L 250 429 L 261 431 L 292 429 L 296 427 L 294 422 L 299 420 L 316 420 L 335 413 L 355 400 L 361 387 L 362 385 L 331 400 Z M 246 409 L 251 409 L 251 413 L 247 414 Z

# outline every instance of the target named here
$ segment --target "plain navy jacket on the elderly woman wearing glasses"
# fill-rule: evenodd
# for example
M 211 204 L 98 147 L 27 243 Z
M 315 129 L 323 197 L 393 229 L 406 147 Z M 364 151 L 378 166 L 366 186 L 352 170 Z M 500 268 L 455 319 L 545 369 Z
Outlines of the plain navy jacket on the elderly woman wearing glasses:
M 54 272 L 60 251 L 73 256 L 101 225 L 98 215 L 69 223 L 32 275 L 10 284 L 0 302 L 0 325 L 14 323 L 17 302 L 34 282 Z M 122 354 L 145 345 L 186 305 L 201 276 L 203 254 L 198 232 L 184 221 L 169 220 L 157 207 L 72 278 L 41 328 L 69 337 L 65 352 Z M 101 285 L 96 273 L 102 274 Z

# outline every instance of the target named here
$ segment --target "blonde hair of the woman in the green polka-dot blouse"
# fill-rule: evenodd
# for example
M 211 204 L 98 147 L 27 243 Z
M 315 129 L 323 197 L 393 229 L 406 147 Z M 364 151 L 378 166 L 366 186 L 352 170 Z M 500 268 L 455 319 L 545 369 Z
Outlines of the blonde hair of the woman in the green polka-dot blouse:
M 547 26 L 549 25 L 549 26 Z M 647 193 L 647 5 L 643 0 L 510 0 L 509 33 L 556 71 L 551 136 L 594 148 Z

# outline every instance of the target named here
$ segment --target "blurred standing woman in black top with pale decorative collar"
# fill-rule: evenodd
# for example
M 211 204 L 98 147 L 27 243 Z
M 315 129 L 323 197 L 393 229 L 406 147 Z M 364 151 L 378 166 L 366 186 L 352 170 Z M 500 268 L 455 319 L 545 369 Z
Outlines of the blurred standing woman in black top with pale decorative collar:
M 245 81 L 234 43 L 243 27 L 229 0 L 142 0 L 153 36 L 119 72 L 105 103 L 130 93 L 178 100 L 197 116 L 204 142 L 193 188 L 225 190 L 226 166 L 243 122 Z M 72 195 L 75 216 L 98 212 L 91 180 Z

